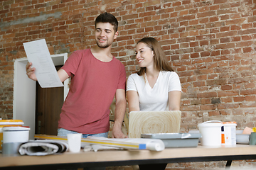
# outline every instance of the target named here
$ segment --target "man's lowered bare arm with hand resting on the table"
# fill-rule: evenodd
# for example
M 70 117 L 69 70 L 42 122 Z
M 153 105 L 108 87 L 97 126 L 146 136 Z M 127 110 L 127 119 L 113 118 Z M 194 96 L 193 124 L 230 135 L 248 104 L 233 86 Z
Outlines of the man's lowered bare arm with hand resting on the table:
M 126 138 L 122 132 L 122 122 L 126 111 L 126 98 L 124 89 L 117 89 L 116 94 L 116 108 L 114 109 L 114 126 L 112 130 L 112 138 Z

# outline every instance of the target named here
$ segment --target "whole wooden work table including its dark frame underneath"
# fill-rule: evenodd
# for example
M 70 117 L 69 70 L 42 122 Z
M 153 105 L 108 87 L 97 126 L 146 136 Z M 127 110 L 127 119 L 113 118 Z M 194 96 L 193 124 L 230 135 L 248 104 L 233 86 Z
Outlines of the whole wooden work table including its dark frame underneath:
M 134 164 L 163 164 L 174 162 L 213 162 L 256 159 L 255 145 L 233 147 L 166 148 L 161 152 L 149 150 L 112 150 L 98 152 L 65 152 L 48 156 L 4 157 L 0 154 L 0 169 L 68 169 Z

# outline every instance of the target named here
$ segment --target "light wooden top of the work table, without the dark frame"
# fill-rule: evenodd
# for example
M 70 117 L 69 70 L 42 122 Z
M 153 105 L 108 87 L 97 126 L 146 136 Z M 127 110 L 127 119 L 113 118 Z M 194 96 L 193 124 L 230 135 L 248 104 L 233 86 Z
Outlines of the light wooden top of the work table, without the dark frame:
M 47 156 L 16 156 L 6 157 L 0 154 L 0 167 L 8 166 L 31 166 L 43 164 L 73 164 L 86 162 L 124 162 L 150 160 L 150 159 L 184 159 L 190 162 L 189 158 L 194 157 L 227 157 L 239 155 L 255 155 L 255 145 L 235 145 L 221 147 L 187 147 L 187 148 L 166 148 L 161 152 L 149 150 L 106 150 L 98 152 L 65 152 Z

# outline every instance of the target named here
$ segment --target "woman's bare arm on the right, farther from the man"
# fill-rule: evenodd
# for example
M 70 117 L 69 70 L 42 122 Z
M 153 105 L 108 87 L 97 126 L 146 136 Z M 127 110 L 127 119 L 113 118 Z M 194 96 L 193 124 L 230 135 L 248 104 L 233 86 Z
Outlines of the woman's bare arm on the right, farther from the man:
M 169 111 L 179 111 L 181 105 L 181 91 L 170 91 L 168 95 Z

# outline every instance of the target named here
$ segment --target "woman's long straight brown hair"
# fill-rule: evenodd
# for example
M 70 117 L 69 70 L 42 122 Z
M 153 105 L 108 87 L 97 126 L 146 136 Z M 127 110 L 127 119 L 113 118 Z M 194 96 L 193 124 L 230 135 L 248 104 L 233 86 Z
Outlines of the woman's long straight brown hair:
M 142 38 L 137 42 L 137 45 L 139 42 L 144 43 L 147 45 L 151 50 L 154 52 L 154 67 L 158 69 L 159 71 L 170 71 L 174 72 L 174 69 L 171 68 L 169 62 L 166 59 L 166 55 L 164 53 L 163 48 L 161 47 L 160 43 L 155 38 Z M 139 76 L 144 76 L 146 73 L 146 67 L 142 67 L 137 74 Z

